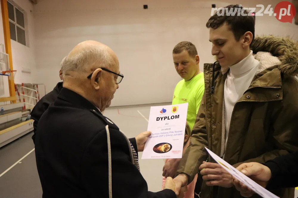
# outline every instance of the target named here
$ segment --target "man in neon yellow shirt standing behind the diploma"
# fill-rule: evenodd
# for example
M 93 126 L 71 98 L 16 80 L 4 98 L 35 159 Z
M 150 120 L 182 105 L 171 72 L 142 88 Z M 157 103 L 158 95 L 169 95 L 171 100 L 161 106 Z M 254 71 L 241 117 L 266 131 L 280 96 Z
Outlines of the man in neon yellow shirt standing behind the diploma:
M 204 94 L 204 73 L 199 69 L 199 56 L 191 42 L 179 42 L 173 49 L 173 61 L 177 73 L 183 78 L 174 90 L 172 104 L 188 102 L 187 123 L 192 130 Z M 163 176 L 173 177 L 181 159 L 165 163 Z

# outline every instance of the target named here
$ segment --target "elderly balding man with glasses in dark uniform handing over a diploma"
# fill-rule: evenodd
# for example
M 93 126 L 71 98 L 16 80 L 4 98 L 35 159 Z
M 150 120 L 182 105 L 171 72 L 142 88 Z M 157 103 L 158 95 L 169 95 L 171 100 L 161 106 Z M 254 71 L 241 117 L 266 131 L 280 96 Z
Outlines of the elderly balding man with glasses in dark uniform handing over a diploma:
M 123 78 L 115 53 L 99 42 L 85 41 L 61 65 L 63 88 L 41 116 L 35 138 L 43 198 L 183 197 L 186 189 L 174 192 L 172 178 L 163 191 L 148 191 L 138 151 L 151 132 L 128 139 L 101 113 Z

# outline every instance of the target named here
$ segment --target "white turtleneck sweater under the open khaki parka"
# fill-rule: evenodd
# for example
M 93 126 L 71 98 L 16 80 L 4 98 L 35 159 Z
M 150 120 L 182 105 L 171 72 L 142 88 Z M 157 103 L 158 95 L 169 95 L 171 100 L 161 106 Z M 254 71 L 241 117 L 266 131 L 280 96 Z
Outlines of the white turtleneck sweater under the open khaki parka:
M 250 54 L 242 61 L 235 65 L 229 66 L 230 70 L 227 74 L 224 84 L 224 102 L 225 102 L 225 124 L 226 124 L 226 142 L 228 140 L 231 116 L 236 102 L 243 96 L 244 92 L 249 88 L 249 85 L 254 78 L 260 62 Z

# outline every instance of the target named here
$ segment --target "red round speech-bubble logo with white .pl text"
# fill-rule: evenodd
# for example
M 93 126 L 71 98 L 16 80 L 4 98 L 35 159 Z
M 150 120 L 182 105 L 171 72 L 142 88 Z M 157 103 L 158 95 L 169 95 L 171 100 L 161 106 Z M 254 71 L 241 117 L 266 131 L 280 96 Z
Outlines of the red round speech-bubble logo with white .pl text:
M 295 14 L 296 9 L 294 5 L 289 1 L 281 1 L 274 7 L 274 16 L 280 22 L 292 23 Z

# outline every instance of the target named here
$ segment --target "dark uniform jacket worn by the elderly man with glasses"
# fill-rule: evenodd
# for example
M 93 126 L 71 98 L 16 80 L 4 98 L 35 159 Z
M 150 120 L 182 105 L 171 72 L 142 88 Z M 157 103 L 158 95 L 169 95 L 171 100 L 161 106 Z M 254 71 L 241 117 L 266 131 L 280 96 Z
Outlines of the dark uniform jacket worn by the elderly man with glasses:
M 176 198 L 169 189 L 149 192 L 132 162 L 127 139 L 116 124 L 91 102 L 66 88 L 37 126 L 35 155 L 43 198 L 109 197 L 107 125 L 113 198 Z M 137 152 L 136 139 L 129 140 Z

